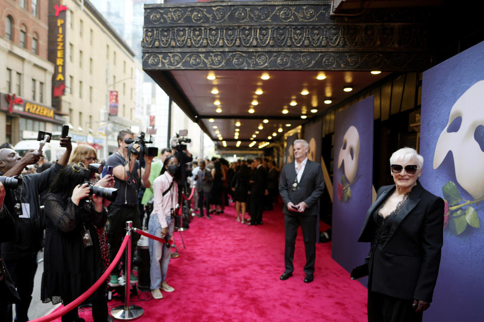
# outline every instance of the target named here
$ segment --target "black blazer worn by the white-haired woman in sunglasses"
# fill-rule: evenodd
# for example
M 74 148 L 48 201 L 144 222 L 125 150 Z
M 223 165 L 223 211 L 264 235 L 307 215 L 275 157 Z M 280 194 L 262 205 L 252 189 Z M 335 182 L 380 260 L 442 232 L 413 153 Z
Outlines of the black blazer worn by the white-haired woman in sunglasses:
M 378 190 L 367 212 L 358 241 L 372 243 L 369 287 L 372 291 L 404 299 L 432 302 L 439 273 L 444 228 L 444 201 L 417 181 L 396 215 L 383 245 L 375 247 L 377 225 L 372 218 L 393 193 L 395 185 Z M 371 284 L 371 285 L 370 285 Z

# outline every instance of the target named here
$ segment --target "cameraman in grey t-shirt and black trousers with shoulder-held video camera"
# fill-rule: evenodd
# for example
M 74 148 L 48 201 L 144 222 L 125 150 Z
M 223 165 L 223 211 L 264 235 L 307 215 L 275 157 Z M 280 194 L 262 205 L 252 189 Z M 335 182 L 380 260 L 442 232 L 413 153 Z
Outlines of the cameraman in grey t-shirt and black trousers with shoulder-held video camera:
M 141 143 L 141 145 L 138 143 Z M 114 175 L 114 188 L 118 189 L 118 195 L 115 201 L 111 202 L 108 211 L 109 225 L 107 228 L 107 240 L 109 243 L 109 260 L 112 261 L 121 246 L 126 234 L 126 221 L 133 221 L 133 227 L 141 229 L 140 209 L 138 208 L 138 191 L 140 186 L 149 188 L 151 186 L 149 179 L 151 171 L 151 162 L 153 156 L 157 155 L 156 148 L 146 148 L 144 146 L 144 133 L 140 135 L 139 140 L 134 140 L 134 134 L 130 129 L 120 130 L 117 134 L 118 149 L 109 155 L 106 160 L 106 167 L 112 166 Z M 147 149 L 147 150 L 146 150 Z M 140 163 L 137 160 L 144 154 L 146 166 L 140 169 Z M 133 253 L 140 236 L 133 234 L 131 243 L 131 252 Z M 136 276 L 131 272 L 126 272 L 126 263 L 123 263 L 123 272 L 128 282 L 137 282 Z M 133 267 L 133 266 L 131 266 Z M 111 273 L 110 286 L 119 285 L 119 267 Z

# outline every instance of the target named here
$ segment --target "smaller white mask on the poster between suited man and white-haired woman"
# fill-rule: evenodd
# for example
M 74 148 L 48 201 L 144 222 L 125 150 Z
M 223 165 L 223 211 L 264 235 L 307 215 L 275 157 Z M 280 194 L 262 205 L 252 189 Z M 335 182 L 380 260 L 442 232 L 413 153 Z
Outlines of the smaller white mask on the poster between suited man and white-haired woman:
M 343 137 L 343 145 L 339 150 L 338 169 L 344 162 L 344 175 L 352 183 L 358 170 L 359 134 L 354 126 L 350 126 Z

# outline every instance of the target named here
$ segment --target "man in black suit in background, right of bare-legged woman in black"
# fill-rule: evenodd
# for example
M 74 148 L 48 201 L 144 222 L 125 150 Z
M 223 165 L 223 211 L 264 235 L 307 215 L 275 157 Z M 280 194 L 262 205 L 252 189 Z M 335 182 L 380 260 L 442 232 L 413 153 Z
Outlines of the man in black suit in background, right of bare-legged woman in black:
M 264 195 L 267 195 L 266 188 L 266 169 L 262 166 L 262 158 L 256 157 L 254 160 L 254 175 L 252 176 L 251 201 L 249 204 L 251 222 L 248 225 L 262 225 L 262 212 L 264 211 Z

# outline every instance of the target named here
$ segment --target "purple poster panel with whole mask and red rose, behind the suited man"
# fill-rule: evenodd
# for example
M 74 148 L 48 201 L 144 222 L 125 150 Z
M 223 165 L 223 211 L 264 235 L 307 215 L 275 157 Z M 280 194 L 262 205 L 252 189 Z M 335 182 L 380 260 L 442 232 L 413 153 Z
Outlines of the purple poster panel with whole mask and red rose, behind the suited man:
M 372 205 L 373 99 L 337 112 L 334 119 L 332 257 L 348 272 L 363 264 L 370 249 L 357 239 Z M 366 278 L 359 281 L 366 286 Z

